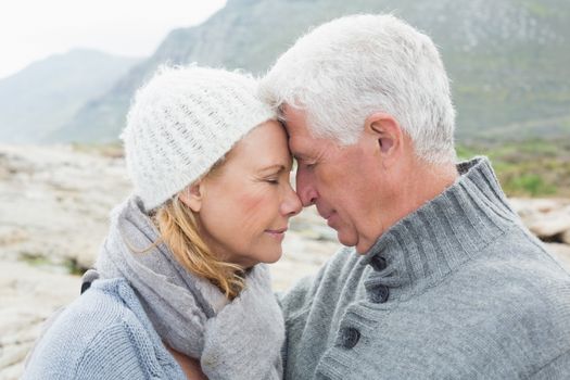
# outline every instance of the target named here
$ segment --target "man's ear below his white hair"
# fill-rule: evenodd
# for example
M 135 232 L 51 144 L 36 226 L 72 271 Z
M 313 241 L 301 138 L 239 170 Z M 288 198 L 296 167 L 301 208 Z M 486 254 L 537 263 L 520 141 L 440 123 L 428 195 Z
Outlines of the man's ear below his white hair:
M 372 138 L 383 162 L 394 161 L 403 152 L 404 132 L 394 116 L 375 113 L 365 121 L 365 135 Z

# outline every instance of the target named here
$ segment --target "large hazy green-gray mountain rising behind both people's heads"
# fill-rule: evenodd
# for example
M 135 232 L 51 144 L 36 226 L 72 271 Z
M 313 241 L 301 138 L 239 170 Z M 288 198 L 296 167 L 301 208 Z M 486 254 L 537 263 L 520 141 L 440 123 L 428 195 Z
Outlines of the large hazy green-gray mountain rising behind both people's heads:
M 230 0 L 204 24 L 173 30 L 149 60 L 86 104 L 60 138 L 116 139 L 134 91 L 161 63 L 259 74 L 311 26 L 362 12 L 393 12 L 432 36 L 453 80 L 461 138 L 570 132 L 568 1 Z

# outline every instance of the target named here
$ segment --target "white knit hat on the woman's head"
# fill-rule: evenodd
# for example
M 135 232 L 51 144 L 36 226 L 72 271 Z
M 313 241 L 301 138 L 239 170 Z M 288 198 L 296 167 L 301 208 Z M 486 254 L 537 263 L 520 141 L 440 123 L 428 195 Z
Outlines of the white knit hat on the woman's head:
M 121 138 L 144 208 L 206 174 L 257 125 L 275 119 L 257 83 L 224 69 L 162 67 L 137 91 Z

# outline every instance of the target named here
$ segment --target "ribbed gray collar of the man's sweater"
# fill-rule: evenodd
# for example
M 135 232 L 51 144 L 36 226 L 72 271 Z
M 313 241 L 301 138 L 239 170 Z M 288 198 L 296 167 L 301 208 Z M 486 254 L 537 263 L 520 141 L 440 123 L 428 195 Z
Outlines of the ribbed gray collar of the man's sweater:
M 390 299 L 411 296 L 409 289 L 438 282 L 517 223 L 486 157 L 457 170 L 454 185 L 387 230 L 360 259 L 373 268 L 365 281 L 372 299 L 379 288 L 394 288 Z

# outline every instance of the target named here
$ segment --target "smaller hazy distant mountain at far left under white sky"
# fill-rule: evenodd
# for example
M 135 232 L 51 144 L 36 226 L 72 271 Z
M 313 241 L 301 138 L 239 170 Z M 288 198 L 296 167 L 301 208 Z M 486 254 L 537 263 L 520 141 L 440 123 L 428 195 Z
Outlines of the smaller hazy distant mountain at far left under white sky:
M 76 49 L 35 62 L 0 80 L 0 141 L 42 140 L 90 98 L 109 91 L 135 62 Z

